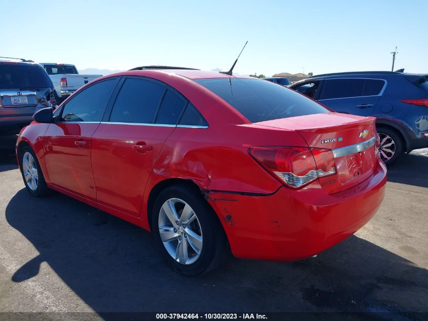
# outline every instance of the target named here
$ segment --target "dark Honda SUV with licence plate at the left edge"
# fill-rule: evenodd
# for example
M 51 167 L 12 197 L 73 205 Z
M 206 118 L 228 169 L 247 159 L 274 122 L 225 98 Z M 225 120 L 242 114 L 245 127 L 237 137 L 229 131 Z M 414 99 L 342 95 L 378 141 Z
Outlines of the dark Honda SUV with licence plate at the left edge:
M 40 64 L 0 57 L 0 132 L 18 133 L 34 112 L 55 103 L 54 85 Z

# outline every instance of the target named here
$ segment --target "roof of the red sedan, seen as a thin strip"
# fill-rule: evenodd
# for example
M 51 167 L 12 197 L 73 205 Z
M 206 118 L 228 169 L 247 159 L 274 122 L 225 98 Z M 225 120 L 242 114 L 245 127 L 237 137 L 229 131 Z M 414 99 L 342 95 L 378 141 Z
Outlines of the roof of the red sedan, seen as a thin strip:
M 206 78 L 250 78 L 253 77 L 243 76 L 243 75 L 225 75 L 219 72 L 208 72 L 206 70 L 197 70 L 197 69 L 142 69 L 142 70 L 128 70 L 126 72 L 120 72 L 116 74 L 110 74 L 108 77 L 112 76 L 155 76 L 157 74 L 169 74 L 175 76 L 181 76 L 188 79 L 206 79 Z

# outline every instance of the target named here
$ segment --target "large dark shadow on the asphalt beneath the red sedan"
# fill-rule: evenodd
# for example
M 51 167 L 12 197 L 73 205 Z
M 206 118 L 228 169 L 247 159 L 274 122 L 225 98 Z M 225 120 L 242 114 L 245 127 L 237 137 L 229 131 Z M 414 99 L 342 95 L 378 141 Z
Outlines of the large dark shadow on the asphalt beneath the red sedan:
M 12 280 L 37 275 L 47 262 L 98 313 L 387 311 L 401 318 L 427 307 L 428 271 L 356 236 L 317 258 L 230 256 L 218 270 L 189 278 L 166 266 L 151 233 L 59 193 L 33 198 L 22 189 L 6 219 L 40 253 Z

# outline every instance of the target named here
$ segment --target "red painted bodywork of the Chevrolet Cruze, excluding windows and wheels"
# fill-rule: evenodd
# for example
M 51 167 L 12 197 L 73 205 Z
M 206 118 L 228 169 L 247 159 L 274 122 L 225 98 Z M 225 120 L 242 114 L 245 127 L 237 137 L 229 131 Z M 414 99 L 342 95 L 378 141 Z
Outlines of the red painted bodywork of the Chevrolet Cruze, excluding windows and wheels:
M 337 158 L 336 175 L 298 190 L 286 188 L 248 153 L 256 146 L 356 144 L 366 140 L 358 136 L 364 129 L 367 139 L 375 135 L 374 118 L 330 113 L 251 124 L 190 80 L 227 75 L 141 70 L 104 78 L 118 75 L 169 84 L 199 109 L 209 128 L 32 123 L 17 144 L 26 142 L 36 152 L 49 187 L 149 230 L 152 189 L 169 179 L 189 180 L 206 194 L 236 256 L 271 260 L 323 251 L 361 228 L 382 201 L 386 169 L 373 147 L 354 163 Z M 333 137 L 343 140 L 321 145 Z M 361 175 L 355 176 L 356 168 Z

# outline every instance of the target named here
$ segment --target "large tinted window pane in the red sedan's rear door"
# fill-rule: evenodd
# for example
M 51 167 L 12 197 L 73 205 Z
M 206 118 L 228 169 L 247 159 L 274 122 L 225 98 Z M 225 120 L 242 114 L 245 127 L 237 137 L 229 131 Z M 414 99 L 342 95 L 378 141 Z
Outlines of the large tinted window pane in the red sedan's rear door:
M 164 92 L 159 83 L 127 79 L 114 102 L 110 122 L 152 124 Z

